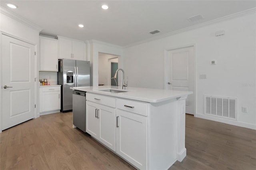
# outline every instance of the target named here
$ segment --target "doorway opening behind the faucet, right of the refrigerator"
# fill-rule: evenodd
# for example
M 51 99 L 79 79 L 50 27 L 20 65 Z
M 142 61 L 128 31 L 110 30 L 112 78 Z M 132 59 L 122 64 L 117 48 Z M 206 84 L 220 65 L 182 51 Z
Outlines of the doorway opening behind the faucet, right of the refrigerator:
M 118 77 L 116 82 L 111 77 L 114 77 L 118 69 L 118 55 L 100 53 L 99 52 L 99 67 L 98 67 L 98 84 L 99 85 L 113 85 L 118 84 Z

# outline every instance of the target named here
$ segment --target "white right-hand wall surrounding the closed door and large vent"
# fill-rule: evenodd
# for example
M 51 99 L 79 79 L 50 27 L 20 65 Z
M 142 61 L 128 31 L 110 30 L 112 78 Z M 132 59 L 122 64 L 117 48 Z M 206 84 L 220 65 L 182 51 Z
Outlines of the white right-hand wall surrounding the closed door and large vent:
M 225 30 L 224 36 L 215 32 Z M 164 51 L 195 45 L 196 116 L 256 129 L 256 14 L 247 14 L 124 49 L 129 86 L 164 89 Z M 217 65 L 210 65 L 216 60 Z M 207 79 L 199 79 L 206 74 Z M 238 98 L 238 121 L 207 117 L 204 95 Z M 242 113 L 247 107 L 248 113 Z

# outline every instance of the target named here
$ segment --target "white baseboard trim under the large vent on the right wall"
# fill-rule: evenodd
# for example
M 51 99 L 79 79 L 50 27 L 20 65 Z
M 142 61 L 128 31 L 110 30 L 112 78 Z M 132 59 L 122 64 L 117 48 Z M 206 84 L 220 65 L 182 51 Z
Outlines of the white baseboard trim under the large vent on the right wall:
M 220 122 L 220 123 L 226 123 L 226 124 L 229 124 L 229 125 L 235 125 L 235 126 L 238 126 L 238 127 L 244 127 L 244 128 L 250 128 L 250 129 L 256 130 L 256 125 L 249 124 L 249 123 L 244 123 L 244 122 L 239 122 L 239 121 L 232 121 L 232 120 L 228 120 L 228 119 L 222 119 L 222 118 L 219 118 L 219 117 L 211 117 L 211 116 L 208 116 L 208 115 L 202 115 L 202 114 L 198 114 L 198 113 L 194 116 L 198 117 L 198 118 L 202 118 L 202 119 L 207 119 L 207 120 L 210 120 L 210 121 L 216 121 L 216 122 Z

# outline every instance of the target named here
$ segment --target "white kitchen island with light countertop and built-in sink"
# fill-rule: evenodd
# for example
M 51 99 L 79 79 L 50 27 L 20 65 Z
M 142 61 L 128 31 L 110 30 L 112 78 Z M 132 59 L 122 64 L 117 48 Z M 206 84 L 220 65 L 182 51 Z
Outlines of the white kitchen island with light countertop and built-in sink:
M 168 169 L 186 156 L 188 91 L 115 86 L 86 91 L 86 132 L 142 170 Z

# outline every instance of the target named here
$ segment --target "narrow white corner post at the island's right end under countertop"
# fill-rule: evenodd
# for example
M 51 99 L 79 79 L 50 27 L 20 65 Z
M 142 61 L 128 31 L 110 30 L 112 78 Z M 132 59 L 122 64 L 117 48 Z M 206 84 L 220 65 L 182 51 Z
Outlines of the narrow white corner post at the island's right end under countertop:
M 186 157 L 185 148 L 185 119 L 186 119 L 186 98 L 177 98 L 177 160 L 181 162 Z

